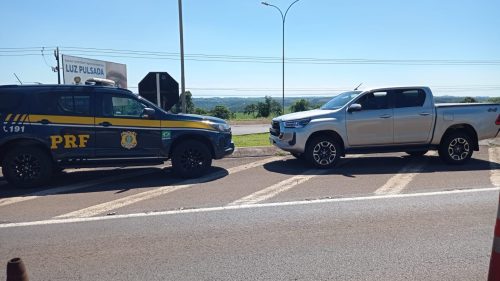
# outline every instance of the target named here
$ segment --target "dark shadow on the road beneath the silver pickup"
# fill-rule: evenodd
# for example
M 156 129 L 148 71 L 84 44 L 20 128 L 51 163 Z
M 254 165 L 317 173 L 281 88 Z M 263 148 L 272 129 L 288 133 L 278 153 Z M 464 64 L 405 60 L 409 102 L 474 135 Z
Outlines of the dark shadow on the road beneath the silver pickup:
M 464 165 L 445 164 L 438 156 L 366 156 L 360 158 L 342 158 L 337 166 L 328 171 L 315 169 L 305 161 L 288 159 L 267 163 L 267 171 L 286 174 L 318 174 L 318 175 L 343 175 L 355 177 L 356 175 L 400 174 L 400 173 L 440 173 L 459 171 L 491 170 L 498 167 L 498 163 L 472 158 Z M 405 169 L 402 169 L 405 167 Z

